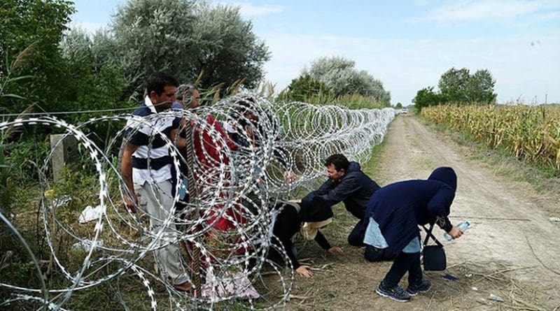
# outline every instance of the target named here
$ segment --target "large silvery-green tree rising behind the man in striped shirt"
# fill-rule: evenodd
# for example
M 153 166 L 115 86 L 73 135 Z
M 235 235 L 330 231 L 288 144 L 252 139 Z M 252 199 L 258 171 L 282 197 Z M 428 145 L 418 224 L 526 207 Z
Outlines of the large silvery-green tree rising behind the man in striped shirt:
M 270 55 L 239 8 L 188 0 L 130 0 L 116 13 L 111 32 L 97 34 L 99 59 L 123 66 L 128 89 L 141 91 L 147 75 L 165 70 L 181 82 L 254 87 Z M 96 43 L 97 45 L 97 43 Z

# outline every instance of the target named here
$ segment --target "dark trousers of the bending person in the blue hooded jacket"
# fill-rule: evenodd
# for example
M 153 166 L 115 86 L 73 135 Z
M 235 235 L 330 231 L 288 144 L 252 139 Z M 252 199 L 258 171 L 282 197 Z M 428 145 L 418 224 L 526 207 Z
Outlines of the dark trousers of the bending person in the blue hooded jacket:
M 420 252 L 403 253 L 400 252 L 393 266 L 383 279 L 383 286 L 393 288 L 400 282 L 400 279 L 408 272 L 408 284 L 420 284 L 422 282 L 422 268 L 420 266 Z

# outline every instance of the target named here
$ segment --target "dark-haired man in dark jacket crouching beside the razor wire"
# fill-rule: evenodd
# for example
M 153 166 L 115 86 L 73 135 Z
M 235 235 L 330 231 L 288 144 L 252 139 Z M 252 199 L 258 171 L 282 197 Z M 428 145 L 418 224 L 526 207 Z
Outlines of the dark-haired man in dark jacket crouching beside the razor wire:
M 348 236 L 348 242 L 353 246 L 363 246 L 356 242 L 357 229 L 364 219 L 365 208 L 379 185 L 361 171 L 358 162 L 350 162 L 343 154 L 332 154 L 325 160 L 328 180 L 318 190 L 311 191 L 307 196 L 317 196 L 328 205 L 335 205 L 340 201 L 354 217 L 360 219 L 356 229 Z

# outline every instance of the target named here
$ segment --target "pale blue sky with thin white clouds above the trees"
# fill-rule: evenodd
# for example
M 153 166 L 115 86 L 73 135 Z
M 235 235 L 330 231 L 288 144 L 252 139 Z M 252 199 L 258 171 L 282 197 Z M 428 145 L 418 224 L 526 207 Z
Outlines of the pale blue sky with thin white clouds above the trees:
M 76 0 L 73 25 L 104 27 L 125 0 Z M 560 102 L 560 1 L 213 1 L 241 7 L 286 87 L 312 60 L 339 55 L 411 103 L 451 67 L 489 69 L 498 102 Z M 344 3 L 346 2 L 346 3 Z M 369 3 L 368 3 L 369 2 Z M 343 4 L 344 3 L 344 4 Z

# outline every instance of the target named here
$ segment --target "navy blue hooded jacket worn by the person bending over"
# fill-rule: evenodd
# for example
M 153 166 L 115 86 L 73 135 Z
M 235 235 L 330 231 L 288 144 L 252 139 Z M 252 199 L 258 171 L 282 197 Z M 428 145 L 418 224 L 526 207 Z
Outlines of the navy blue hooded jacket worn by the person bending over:
M 436 223 L 451 230 L 449 215 L 457 176 L 453 168 L 436 168 L 428 180 L 406 180 L 377 190 L 365 210 L 384 236 L 388 251 L 398 254 L 415 237 L 418 225 Z

